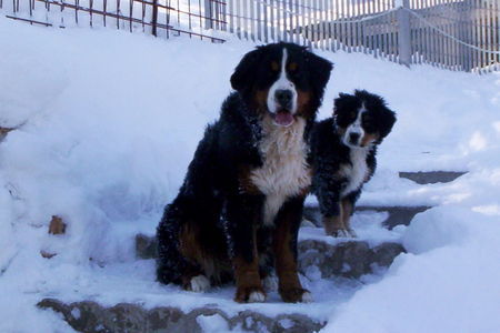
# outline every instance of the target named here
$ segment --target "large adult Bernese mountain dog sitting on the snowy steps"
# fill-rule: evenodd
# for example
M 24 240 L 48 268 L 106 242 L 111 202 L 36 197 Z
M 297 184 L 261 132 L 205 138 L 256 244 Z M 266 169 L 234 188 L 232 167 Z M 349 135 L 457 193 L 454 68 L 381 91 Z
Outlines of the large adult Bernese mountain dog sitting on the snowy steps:
M 157 276 L 200 292 L 236 282 L 237 302 L 263 302 L 276 269 L 284 302 L 308 302 L 297 238 L 310 190 L 308 137 L 332 64 L 292 43 L 258 47 L 231 75 L 177 198 L 157 229 Z

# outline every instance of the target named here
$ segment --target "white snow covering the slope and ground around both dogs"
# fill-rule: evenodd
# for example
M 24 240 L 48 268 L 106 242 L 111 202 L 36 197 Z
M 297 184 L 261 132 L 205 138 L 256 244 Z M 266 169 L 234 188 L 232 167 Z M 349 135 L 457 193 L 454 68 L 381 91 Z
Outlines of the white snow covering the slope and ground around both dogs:
M 321 118 L 340 91 L 380 93 L 398 112 L 362 204 L 437 205 L 408 228 L 354 216 L 361 239 L 410 251 L 382 275 L 303 279 L 316 302 L 239 305 L 154 282 L 133 236 L 152 234 L 166 202 L 253 46 L 169 41 L 109 30 L 53 30 L 0 18 L 0 332 L 70 332 L 34 304 L 51 296 L 104 305 L 219 304 L 228 312 L 307 313 L 336 332 L 498 332 L 500 327 L 500 75 L 477 77 L 362 54 L 332 60 Z M 417 185 L 398 171 L 469 171 Z M 313 202 L 310 199 L 310 202 Z M 439 206 L 438 206 L 439 205 Z M 66 235 L 47 233 L 52 215 Z M 301 238 L 322 238 L 303 229 Z M 332 240 L 329 240 L 332 241 Z M 40 251 L 57 252 L 47 260 Z M 91 260 L 89 260 L 91 259 Z

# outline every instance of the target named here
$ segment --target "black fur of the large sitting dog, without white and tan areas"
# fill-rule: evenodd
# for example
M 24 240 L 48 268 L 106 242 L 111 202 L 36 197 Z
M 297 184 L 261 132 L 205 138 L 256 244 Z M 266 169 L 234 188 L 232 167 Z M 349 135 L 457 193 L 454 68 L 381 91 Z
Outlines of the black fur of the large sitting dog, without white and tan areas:
M 241 173 L 263 163 L 259 143 L 266 111 L 259 105 L 257 93 L 266 91 L 277 80 L 270 62 L 279 60 L 283 48 L 300 69 L 290 80 L 310 97 L 299 114 L 306 119 L 303 140 L 307 141 L 331 63 L 290 43 L 259 47 L 247 53 L 231 77 L 236 92 L 223 102 L 219 120 L 207 128 L 179 194 L 166 206 L 158 225 L 157 276 L 160 282 L 189 289 L 189 279 L 198 274 L 211 278 L 212 283 L 230 281 L 236 278 L 231 260 L 241 258 L 247 263 L 252 262 L 254 246 L 259 254 L 269 252 L 272 230 L 262 225 L 266 195 L 247 190 Z M 292 216 L 290 246 L 296 256 L 304 195 L 288 198 L 276 216 L 276 220 L 281 215 Z M 251 236 L 256 230 L 257 240 Z M 187 238 L 191 244 L 182 244 Z M 190 258 L 186 255 L 189 246 L 196 248 Z M 261 278 L 271 265 L 272 255 L 260 263 Z M 243 296 L 239 301 L 247 300 Z

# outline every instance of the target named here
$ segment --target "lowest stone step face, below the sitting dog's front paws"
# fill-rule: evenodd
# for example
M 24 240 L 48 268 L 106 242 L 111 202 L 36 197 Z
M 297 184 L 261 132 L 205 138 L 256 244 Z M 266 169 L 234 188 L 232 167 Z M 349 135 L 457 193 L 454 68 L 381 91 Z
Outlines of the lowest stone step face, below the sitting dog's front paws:
M 303 314 L 268 316 L 251 310 L 228 315 L 224 311 L 207 305 L 189 312 L 172 306 L 147 310 L 138 304 L 120 303 L 106 307 L 96 302 L 63 303 L 44 299 L 41 309 L 60 313 L 78 332 L 296 332 L 309 333 L 321 330 L 326 322 L 314 321 Z

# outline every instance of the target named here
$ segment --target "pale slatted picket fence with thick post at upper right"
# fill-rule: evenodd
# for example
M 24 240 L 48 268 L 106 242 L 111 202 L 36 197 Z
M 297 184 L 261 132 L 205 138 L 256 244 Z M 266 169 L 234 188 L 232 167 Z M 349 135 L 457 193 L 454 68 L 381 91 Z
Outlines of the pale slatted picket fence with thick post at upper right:
M 363 52 L 407 65 L 500 70 L 498 0 L 227 0 L 241 39 Z

